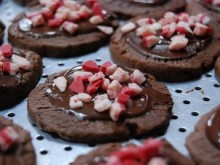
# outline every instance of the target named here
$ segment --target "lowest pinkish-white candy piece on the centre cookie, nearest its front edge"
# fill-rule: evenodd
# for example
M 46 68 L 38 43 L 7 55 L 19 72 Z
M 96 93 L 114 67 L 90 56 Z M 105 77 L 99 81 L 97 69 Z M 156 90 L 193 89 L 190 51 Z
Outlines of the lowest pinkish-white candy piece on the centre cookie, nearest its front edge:
M 111 105 L 109 115 L 113 121 L 118 121 L 120 115 L 125 112 L 124 105 L 120 103 L 113 103 Z

